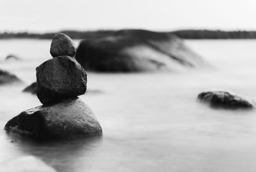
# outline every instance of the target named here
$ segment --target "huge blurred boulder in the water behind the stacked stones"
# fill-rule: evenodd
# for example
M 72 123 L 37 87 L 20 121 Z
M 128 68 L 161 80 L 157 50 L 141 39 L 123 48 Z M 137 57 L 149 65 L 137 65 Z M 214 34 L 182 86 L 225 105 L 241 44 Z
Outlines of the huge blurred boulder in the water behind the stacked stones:
M 204 64 L 177 36 L 145 30 L 122 30 L 104 38 L 84 39 L 76 59 L 84 68 L 99 72 L 175 70 Z

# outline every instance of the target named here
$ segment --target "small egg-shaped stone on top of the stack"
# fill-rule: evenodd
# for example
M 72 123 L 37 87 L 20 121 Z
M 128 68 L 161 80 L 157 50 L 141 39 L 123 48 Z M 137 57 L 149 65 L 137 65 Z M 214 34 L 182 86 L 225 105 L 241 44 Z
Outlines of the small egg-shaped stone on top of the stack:
M 58 33 L 52 39 L 50 53 L 52 57 L 61 55 L 74 57 L 76 55 L 76 47 L 71 38 L 63 33 Z

